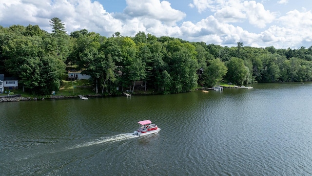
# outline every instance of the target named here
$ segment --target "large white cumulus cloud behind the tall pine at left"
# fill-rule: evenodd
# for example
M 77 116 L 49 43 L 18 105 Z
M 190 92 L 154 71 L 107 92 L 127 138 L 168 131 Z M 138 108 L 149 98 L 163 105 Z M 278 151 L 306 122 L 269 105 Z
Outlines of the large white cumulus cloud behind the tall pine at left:
M 7 24 L 39 24 L 51 31 L 49 20 L 58 17 L 67 31 L 88 29 L 106 35 L 120 29 L 122 22 L 107 13 L 98 2 L 90 0 L 6 0 L 0 2 L 0 23 Z M 13 21 L 13 22 L 12 22 Z M 104 32 L 103 32 L 104 31 Z

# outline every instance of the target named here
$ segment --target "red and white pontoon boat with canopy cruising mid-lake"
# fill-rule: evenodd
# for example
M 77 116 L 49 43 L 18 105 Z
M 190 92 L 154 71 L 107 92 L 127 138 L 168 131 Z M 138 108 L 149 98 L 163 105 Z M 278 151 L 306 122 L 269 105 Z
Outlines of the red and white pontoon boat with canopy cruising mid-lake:
M 147 134 L 154 134 L 160 131 L 157 125 L 152 124 L 150 120 L 143 120 L 137 122 L 139 124 L 139 128 L 133 134 L 137 136 L 143 136 Z

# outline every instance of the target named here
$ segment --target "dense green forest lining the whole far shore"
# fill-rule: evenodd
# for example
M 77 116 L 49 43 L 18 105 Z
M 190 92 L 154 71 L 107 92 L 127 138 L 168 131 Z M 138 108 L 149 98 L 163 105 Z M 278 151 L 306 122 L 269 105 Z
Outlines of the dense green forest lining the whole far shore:
M 312 46 L 256 48 L 237 42 L 227 47 L 144 32 L 104 37 L 86 29 L 68 35 L 59 18 L 50 23 L 51 32 L 38 25 L 0 26 L 0 73 L 18 77 L 25 91 L 44 95 L 59 90 L 69 68 L 90 75 L 96 93 L 110 94 L 117 94 L 117 87 L 133 91 L 136 81 L 164 94 L 221 81 L 312 81 Z

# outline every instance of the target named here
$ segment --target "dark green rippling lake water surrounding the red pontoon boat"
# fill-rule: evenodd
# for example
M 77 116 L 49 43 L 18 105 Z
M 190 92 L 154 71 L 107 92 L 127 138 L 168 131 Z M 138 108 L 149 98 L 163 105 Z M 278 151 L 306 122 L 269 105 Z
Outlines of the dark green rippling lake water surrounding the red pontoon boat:
M 312 175 L 312 83 L 252 86 L 0 103 L 0 175 Z

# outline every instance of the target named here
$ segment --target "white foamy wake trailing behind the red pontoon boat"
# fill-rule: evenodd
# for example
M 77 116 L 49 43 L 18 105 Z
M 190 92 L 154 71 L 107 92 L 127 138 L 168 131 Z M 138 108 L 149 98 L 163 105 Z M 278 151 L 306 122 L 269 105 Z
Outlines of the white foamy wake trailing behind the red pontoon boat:
M 122 141 L 126 139 L 131 139 L 131 138 L 136 138 L 139 136 L 133 135 L 133 133 L 123 133 L 123 134 L 117 134 L 114 136 L 109 136 L 109 137 L 101 137 L 99 139 L 92 140 L 90 142 L 86 142 L 83 144 L 78 144 L 70 149 L 76 149 L 80 147 L 88 147 L 88 146 L 93 146 L 93 145 L 98 145 L 106 142 L 117 142 L 117 141 Z

